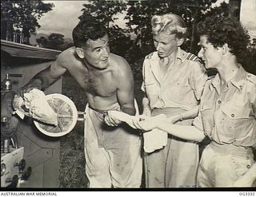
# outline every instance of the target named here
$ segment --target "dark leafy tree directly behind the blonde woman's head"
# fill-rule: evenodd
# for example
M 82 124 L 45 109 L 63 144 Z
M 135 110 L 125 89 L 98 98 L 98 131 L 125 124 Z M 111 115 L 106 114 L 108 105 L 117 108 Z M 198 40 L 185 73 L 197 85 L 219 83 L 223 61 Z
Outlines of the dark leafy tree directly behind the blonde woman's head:
M 174 13 L 181 16 L 188 27 L 188 37 L 190 45 L 186 44 L 187 50 L 194 52 L 195 25 L 204 16 L 207 10 L 210 10 L 212 3 L 217 0 L 159 0 L 159 1 L 130 1 L 126 14 L 126 23 L 130 32 L 137 35 L 136 42 L 141 46 L 142 53 L 149 53 L 154 49 L 150 19 L 154 14 Z M 184 47 L 184 46 L 183 46 Z

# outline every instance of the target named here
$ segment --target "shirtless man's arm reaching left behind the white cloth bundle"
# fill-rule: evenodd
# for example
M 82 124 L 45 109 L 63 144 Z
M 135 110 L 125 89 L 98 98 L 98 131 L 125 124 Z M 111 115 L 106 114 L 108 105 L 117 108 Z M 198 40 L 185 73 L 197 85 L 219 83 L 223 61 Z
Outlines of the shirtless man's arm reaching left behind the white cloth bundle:
M 61 58 L 58 57 L 50 66 L 37 73 L 25 86 L 19 89 L 18 94 L 23 97 L 24 93 L 30 92 L 31 89 L 44 90 L 65 72 L 66 68 L 62 65 Z

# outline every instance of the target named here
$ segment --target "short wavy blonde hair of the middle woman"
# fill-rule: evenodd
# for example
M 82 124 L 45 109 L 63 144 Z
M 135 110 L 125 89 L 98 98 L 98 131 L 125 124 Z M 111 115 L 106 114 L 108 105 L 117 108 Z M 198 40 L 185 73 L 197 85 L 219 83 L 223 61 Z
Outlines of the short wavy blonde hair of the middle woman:
M 186 25 L 177 14 L 154 15 L 151 19 L 152 33 L 175 34 L 178 38 L 186 37 Z

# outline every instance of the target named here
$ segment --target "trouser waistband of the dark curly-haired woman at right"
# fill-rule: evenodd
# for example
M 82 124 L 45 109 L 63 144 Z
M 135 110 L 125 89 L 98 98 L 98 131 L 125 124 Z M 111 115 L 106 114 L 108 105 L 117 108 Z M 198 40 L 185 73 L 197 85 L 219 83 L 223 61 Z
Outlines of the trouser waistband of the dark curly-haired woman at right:
M 214 141 L 210 143 L 210 147 L 216 152 L 220 152 L 226 155 L 242 156 L 242 157 L 253 157 L 253 148 L 234 146 L 233 144 L 218 144 Z

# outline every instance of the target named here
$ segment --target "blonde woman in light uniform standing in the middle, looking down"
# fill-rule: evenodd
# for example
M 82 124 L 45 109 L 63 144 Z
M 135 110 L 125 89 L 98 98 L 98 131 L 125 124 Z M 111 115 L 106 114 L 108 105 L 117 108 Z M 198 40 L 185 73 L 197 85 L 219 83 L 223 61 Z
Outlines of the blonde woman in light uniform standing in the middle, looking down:
M 176 14 L 156 15 L 151 23 L 156 51 L 147 55 L 143 63 L 143 114 L 164 113 L 177 119 L 181 113 L 197 108 L 207 79 L 206 70 L 198 57 L 180 49 L 186 39 L 182 18 Z M 192 120 L 180 120 L 177 124 L 191 125 Z M 150 144 L 146 135 L 146 187 L 195 187 L 198 144 L 169 135 L 163 148 L 152 150 L 145 145 Z M 161 131 L 152 135 L 153 140 L 162 138 Z

